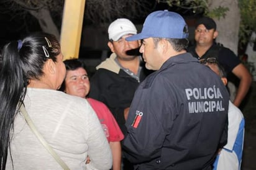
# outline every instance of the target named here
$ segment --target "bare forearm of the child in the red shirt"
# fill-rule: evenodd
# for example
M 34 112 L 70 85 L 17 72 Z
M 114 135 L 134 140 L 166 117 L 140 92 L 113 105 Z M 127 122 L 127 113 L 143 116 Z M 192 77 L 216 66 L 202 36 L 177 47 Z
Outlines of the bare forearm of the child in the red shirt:
M 112 157 L 113 157 L 112 170 L 120 170 L 121 169 L 121 143 L 120 141 L 110 141 L 109 146 L 111 148 Z

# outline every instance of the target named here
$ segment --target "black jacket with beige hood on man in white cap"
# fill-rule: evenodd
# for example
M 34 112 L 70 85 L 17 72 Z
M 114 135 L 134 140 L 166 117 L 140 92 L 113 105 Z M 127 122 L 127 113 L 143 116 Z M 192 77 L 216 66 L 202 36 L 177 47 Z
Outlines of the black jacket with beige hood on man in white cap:
M 126 134 L 124 109 L 130 107 L 140 81 L 143 81 L 150 72 L 145 69 L 145 66 L 142 66 L 139 79 L 137 79 L 117 65 L 114 58 L 109 58 L 105 63 L 104 68 L 97 69 L 90 79 L 89 97 L 106 104 L 114 115 L 122 133 Z M 112 70 L 113 63 L 116 63 L 115 66 L 119 68 L 118 71 Z

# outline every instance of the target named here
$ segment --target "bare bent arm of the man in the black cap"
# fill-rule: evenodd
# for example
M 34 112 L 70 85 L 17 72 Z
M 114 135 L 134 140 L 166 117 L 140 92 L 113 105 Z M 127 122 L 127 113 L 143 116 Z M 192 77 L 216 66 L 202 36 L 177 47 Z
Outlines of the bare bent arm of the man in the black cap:
M 237 94 L 233 101 L 234 105 L 239 107 L 245 95 L 249 91 L 250 84 L 252 83 L 252 76 L 242 63 L 235 66 L 235 68 L 232 70 L 232 73 L 240 79 Z

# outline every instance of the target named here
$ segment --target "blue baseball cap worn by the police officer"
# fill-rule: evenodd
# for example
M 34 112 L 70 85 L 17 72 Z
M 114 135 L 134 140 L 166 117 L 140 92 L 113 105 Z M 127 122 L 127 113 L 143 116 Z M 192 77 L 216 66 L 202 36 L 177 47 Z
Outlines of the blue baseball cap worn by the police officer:
M 188 38 L 188 25 L 180 14 L 170 11 L 155 11 L 145 19 L 142 32 L 127 37 L 127 41 L 155 38 Z

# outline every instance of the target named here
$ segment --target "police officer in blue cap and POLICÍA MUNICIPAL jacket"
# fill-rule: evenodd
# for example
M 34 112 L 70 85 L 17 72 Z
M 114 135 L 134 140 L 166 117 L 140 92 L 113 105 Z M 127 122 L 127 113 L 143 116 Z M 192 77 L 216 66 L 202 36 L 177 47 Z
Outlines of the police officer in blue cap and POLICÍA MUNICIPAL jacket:
M 187 37 L 183 17 L 155 11 L 140 34 L 126 38 L 142 40 L 146 67 L 156 70 L 137 88 L 126 122 L 122 144 L 135 169 L 212 169 L 227 142 L 229 94 L 186 52 Z

